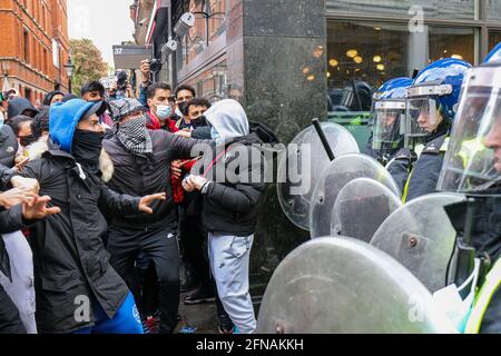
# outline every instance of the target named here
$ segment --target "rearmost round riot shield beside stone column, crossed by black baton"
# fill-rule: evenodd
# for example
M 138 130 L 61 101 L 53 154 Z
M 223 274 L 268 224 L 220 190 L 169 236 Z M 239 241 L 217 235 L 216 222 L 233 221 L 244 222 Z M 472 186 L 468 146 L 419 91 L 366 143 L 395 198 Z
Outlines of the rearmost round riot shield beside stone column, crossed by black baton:
M 360 152 L 355 138 L 334 122 L 322 122 L 322 129 L 335 157 Z M 288 219 L 310 230 L 310 202 L 315 184 L 330 164 L 318 134 L 311 126 L 288 145 L 278 165 L 278 200 Z

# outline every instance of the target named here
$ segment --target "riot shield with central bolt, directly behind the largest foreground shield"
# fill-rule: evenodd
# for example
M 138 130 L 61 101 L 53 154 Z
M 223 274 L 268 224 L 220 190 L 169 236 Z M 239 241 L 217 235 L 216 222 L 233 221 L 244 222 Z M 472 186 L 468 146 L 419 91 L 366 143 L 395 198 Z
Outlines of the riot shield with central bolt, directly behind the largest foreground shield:
M 381 225 L 371 245 L 400 261 L 432 293 L 442 289 L 456 237 L 443 207 L 462 199 L 459 194 L 432 194 L 412 200 Z

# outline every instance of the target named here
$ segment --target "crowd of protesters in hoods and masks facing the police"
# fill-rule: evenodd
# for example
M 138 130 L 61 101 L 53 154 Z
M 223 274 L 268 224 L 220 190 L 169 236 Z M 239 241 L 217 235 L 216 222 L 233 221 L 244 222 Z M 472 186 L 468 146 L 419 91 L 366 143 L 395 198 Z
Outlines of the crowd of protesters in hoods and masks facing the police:
M 245 178 L 264 162 L 237 181 L 216 171 L 271 136 L 237 101 L 151 82 L 148 61 L 141 71 L 137 99 L 99 81 L 40 108 L 1 98 L 0 333 L 169 334 L 181 291 L 217 301 L 219 333 L 255 332 L 248 265 L 265 184 Z M 193 270 L 183 286 L 180 256 Z

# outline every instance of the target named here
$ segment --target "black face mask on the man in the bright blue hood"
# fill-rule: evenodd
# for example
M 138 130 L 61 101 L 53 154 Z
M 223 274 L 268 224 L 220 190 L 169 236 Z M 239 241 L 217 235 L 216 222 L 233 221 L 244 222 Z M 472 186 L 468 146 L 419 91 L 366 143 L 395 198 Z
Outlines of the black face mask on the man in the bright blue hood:
M 76 130 L 73 135 L 72 155 L 77 162 L 91 174 L 99 171 L 99 156 L 102 150 L 105 134 L 87 130 Z

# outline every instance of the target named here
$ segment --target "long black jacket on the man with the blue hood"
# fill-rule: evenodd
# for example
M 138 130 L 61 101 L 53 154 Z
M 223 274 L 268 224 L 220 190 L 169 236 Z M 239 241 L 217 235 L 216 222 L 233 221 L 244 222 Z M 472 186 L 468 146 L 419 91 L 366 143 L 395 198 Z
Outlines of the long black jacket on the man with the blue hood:
M 128 295 L 127 285 L 109 266 L 102 237 L 108 230 L 104 212 L 138 212 L 139 198 L 120 196 L 100 177 L 82 171 L 73 157 L 49 150 L 27 165 L 22 176 L 40 182 L 40 195 L 61 208 L 31 229 L 37 291 L 37 324 L 41 333 L 71 333 L 91 326 L 96 319 L 76 320 L 82 298 L 98 301 L 112 318 Z

